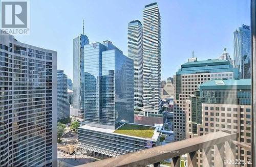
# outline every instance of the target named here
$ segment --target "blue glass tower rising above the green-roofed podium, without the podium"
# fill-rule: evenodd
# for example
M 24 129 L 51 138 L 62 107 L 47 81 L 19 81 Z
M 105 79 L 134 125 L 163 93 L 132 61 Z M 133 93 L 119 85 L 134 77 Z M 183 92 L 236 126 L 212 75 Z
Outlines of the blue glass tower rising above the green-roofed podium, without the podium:
M 133 123 L 133 61 L 110 41 L 84 46 L 84 121 Z

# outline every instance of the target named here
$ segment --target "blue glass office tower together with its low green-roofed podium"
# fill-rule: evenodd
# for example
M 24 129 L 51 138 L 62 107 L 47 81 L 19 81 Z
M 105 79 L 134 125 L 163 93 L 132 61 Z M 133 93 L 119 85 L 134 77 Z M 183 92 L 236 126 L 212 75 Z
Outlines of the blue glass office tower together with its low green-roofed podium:
M 118 156 L 156 146 L 160 134 L 156 126 L 133 124 L 133 60 L 104 41 L 84 46 L 84 62 L 86 125 L 78 129 L 79 147 Z M 151 132 L 136 135 L 134 130 L 139 129 Z

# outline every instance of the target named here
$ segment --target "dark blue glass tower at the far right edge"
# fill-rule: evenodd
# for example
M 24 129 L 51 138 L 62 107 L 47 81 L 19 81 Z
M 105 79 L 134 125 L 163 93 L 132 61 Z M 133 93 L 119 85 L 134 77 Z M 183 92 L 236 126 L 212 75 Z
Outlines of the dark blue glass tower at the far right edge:
M 234 31 L 234 67 L 240 78 L 251 78 L 251 30 L 244 25 Z

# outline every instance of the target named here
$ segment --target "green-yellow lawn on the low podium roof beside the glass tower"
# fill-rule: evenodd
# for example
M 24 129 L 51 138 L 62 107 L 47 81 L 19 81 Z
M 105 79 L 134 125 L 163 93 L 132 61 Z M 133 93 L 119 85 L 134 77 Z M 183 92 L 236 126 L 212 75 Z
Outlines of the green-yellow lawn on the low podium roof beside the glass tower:
M 134 125 L 126 123 L 117 130 L 115 130 L 114 133 L 126 134 L 143 138 L 152 138 L 154 130 L 155 127 L 152 126 Z

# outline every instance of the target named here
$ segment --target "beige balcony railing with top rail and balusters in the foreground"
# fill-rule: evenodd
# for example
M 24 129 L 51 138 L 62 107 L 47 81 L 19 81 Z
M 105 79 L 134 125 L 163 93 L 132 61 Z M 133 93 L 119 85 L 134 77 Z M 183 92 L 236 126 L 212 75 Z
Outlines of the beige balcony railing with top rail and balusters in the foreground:
M 229 134 L 226 131 L 209 133 L 206 135 L 189 138 L 187 140 L 170 143 L 154 148 L 142 150 L 136 153 L 120 155 L 97 162 L 79 165 L 87 166 L 146 166 L 154 164 L 159 166 L 160 161 L 172 158 L 172 166 L 180 166 L 180 156 L 187 154 L 188 166 L 197 166 L 197 151 L 203 151 L 203 166 L 211 166 L 211 148 L 214 146 L 215 166 L 225 166 L 225 159 L 236 159 L 236 147 L 243 147 L 250 151 L 249 146 L 237 142 L 239 133 Z M 226 164 L 235 166 L 235 164 Z

